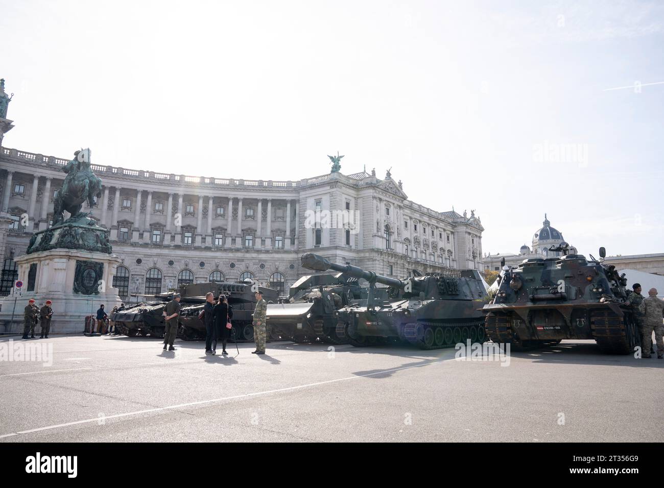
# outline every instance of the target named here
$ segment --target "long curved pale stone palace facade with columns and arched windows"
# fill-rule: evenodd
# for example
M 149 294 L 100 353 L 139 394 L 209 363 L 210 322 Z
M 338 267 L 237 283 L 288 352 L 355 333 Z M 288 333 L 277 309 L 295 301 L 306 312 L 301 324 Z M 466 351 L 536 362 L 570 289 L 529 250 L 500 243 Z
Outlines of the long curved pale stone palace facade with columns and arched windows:
M 0 147 L 1 212 L 11 219 L 0 240 L 0 295 L 15 279 L 13 258 L 51 224 L 67 161 Z M 103 184 L 92 214 L 122 259 L 113 286 L 125 301 L 208 280 L 250 278 L 287 292 L 310 274 L 304 252 L 400 278 L 484 269 L 479 217 L 414 203 L 389 172 L 263 181 L 98 165 L 94 153 L 92 161 Z

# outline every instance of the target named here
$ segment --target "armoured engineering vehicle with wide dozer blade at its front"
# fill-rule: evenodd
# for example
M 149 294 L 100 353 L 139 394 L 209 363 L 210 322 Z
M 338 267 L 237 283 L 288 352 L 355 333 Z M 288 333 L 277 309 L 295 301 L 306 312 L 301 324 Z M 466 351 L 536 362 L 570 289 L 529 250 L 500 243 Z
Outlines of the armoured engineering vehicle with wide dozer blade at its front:
M 302 276 L 287 298 L 268 305 L 268 327 L 273 335 L 296 343 L 345 343 L 345 337 L 337 335 L 335 312 L 366 298 L 367 289 L 359 280 L 343 273 Z

